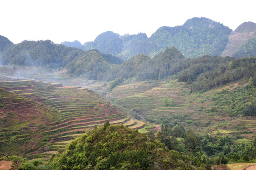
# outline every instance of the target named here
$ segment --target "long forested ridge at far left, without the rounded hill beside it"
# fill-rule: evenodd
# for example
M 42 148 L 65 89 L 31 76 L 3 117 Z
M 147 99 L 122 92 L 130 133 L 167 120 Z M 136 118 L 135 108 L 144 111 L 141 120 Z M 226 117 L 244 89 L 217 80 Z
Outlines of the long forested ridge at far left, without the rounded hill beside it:
M 0 55 L 0 60 L 2 64 L 61 68 L 83 53 L 84 50 L 54 44 L 50 40 L 37 42 L 25 40 L 10 46 Z

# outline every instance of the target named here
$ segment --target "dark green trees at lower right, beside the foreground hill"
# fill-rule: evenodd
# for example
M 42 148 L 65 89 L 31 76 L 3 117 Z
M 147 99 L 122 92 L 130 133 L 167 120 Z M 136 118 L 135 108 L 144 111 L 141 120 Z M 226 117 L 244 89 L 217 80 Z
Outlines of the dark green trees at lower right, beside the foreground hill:
M 256 137 L 253 142 L 241 144 L 230 135 L 197 135 L 181 126 L 165 125 L 157 133 L 157 138 L 169 149 L 190 155 L 193 161 L 200 160 L 206 164 L 253 162 L 256 158 Z

